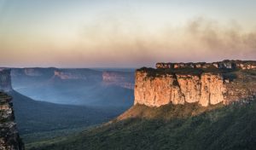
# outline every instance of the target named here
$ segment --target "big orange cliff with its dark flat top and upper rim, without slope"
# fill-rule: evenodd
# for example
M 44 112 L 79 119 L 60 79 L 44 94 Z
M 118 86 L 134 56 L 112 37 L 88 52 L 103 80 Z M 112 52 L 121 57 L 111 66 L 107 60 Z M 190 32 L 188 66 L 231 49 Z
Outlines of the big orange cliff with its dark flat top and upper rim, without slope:
M 137 70 L 135 104 L 160 107 L 169 103 L 198 102 L 207 107 L 246 102 L 256 95 L 255 61 L 166 63 L 168 67 L 160 64 L 163 63 L 158 63 L 157 69 Z

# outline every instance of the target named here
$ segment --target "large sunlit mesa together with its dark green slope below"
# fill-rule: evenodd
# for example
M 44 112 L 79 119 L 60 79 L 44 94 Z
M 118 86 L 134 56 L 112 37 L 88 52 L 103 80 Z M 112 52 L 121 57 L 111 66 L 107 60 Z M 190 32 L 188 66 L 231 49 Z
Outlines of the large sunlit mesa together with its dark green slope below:
M 237 65 L 243 63 L 250 68 Z M 213 64 L 137 69 L 134 105 L 125 113 L 29 149 L 253 150 L 255 63 Z

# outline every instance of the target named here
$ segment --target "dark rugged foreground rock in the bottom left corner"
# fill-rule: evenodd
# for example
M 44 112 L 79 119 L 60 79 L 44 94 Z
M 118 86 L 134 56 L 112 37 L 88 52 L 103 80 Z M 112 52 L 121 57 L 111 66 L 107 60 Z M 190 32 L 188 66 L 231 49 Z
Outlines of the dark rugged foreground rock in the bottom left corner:
M 0 92 L 0 149 L 23 150 L 12 107 L 11 97 Z

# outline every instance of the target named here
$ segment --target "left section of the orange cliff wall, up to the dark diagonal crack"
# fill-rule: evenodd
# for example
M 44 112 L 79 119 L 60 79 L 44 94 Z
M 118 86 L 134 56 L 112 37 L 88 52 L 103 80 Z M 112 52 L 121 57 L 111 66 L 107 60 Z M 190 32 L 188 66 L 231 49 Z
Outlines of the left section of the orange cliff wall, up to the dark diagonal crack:
M 185 99 L 176 78 L 169 74 L 156 78 L 148 78 L 147 75 L 147 72 L 136 73 L 135 104 L 160 107 L 170 102 L 184 103 Z

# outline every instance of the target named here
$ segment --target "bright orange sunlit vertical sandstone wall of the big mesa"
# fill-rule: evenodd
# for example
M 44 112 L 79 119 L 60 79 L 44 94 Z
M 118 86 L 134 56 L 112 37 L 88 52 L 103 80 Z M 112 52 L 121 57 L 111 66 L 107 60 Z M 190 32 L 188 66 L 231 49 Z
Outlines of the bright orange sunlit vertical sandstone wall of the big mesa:
M 148 78 L 147 72 L 136 73 L 135 104 L 160 107 L 169 103 L 199 102 L 202 106 L 224 101 L 226 91 L 220 75 L 161 75 Z

